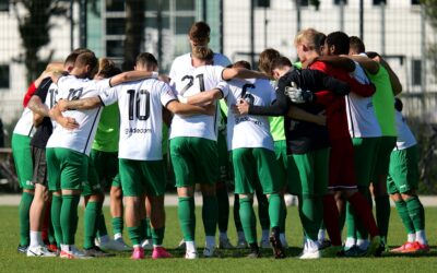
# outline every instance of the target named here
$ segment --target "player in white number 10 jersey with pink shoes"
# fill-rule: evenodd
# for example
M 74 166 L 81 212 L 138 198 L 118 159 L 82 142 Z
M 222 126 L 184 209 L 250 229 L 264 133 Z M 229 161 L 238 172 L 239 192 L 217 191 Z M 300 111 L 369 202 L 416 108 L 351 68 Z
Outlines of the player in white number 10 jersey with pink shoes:
M 135 70 L 151 72 L 156 68 L 157 61 L 153 55 L 145 52 L 137 58 Z M 131 258 L 144 259 L 139 210 L 144 205 L 142 200 L 145 193 L 151 198 L 152 258 L 168 258 L 169 253 L 162 247 L 165 230 L 165 177 L 161 145 L 163 106 L 179 115 L 213 112 L 202 107 L 179 104 L 169 86 L 154 79 L 105 90 L 97 97 L 70 102 L 61 108 L 87 109 L 117 100 L 121 117 L 119 167 L 126 198 L 127 226 L 133 244 Z

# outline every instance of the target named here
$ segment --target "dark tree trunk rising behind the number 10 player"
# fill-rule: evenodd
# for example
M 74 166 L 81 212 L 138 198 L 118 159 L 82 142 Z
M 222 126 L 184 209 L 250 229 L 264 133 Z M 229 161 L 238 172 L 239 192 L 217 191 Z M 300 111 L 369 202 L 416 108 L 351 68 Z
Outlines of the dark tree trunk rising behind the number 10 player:
M 126 39 L 125 62 L 122 70 L 131 70 L 135 64 L 135 58 L 140 54 L 144 34 L 144 9 L 143 0 L 126 1 Z

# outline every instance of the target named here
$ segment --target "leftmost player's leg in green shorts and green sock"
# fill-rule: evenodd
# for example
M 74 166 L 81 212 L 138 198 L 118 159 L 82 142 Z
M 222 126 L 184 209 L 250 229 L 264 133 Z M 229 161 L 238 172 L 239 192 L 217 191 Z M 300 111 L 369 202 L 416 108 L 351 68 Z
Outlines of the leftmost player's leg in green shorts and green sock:
M 12 135 L 12 155 L 19 182 L 23 189 L 19 205 L 20 244 L 17 251 L 26 253 L 29 245 L 29 210 L 32 200 L 34 199 L 31 138 L 14 133 Z

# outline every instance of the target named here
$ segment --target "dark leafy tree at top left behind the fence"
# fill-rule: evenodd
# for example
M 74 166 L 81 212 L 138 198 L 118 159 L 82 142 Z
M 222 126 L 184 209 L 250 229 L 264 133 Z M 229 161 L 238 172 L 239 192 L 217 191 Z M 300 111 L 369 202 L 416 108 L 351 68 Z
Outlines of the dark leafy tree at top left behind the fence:
M 13 2 L 15 16 L 19 21 L 19 32 L 23 41 L 24 55 L 19 61 L 26 66 L 27 82 L 31 83 L 51 60 L 54 50 L 45 59 L 39 59 L 39 50 L 50 41 L 49 31 L 51 16 L 67 14 L 67 8 L 60 0 L 15 0 Z M 19 7 L 24 8 L 21 13 Z

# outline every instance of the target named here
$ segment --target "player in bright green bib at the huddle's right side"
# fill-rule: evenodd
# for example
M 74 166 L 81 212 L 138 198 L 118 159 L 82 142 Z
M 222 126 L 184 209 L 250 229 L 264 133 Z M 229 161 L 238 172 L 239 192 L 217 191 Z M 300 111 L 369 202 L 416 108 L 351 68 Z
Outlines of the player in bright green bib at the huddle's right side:
M 350 55 L 359 55 L 365 52 L 364 43 L 355 36 L 350 37 Z M 402 92 L 402 85 L 398 76 L 391 70 L 390 66 L 377 54 L 368 52 L 365 58 L 362 56 L 352 56 L 367 72 L 370 82 L 376 86 L 376 93 L 373 96 L 376 117 L 381 128 L 381 139 L 377 151 L 377 162 L 371 177 L 373 193 L 376 204 L 376 218 L 381 235 L 382 242 L 387 245 L 387 235 L 390 219 L 390 202 L 387 193 L 387 174 L 390 162 L 390 153 L 395 145 L 397 130 L 394 122 L 394 95 Z M 377 61 L 373 61 L 371 59 Z M 359 232 L 363 234 L 363 232 Z M 363 235 L 362 237 L 365 237 Z

